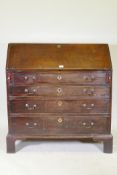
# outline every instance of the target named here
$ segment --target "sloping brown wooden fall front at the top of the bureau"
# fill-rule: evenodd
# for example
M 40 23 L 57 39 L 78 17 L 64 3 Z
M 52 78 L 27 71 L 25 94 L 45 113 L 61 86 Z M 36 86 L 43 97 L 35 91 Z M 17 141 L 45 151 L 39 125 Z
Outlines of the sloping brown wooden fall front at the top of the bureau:
M 107 44 L 9 44 L 7 69 L 111 69 Z

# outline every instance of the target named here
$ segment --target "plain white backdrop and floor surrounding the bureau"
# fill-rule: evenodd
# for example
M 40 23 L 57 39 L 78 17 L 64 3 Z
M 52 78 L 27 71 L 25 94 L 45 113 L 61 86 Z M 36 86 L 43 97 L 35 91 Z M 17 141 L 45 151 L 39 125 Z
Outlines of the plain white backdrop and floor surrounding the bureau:
M 113 62 L 114 153 L 101 144 L 22 142 L 6 154 L 5 63 L 9 42 L 109 43 Z M 0 173 L 116 174 L 117 0 L 0 0 Z

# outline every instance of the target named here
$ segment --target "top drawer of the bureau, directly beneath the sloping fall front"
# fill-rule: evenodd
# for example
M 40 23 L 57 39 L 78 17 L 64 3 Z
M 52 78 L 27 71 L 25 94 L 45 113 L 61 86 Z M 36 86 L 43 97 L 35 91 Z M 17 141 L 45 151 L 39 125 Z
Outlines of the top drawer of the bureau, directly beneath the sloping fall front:
M 16 72 L 8 74 L 9 81 L 17 85 L 34 83 L 68 83 L 68 84 L 105 84 L 106 71 L 48 71 Z

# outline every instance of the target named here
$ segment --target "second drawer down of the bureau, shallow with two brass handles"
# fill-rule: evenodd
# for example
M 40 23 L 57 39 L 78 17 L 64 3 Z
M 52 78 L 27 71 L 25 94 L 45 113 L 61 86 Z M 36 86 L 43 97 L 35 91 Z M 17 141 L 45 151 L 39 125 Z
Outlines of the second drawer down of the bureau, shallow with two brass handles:
M 10 87 L 12 96 L 44 96 L 44 97 L 110 97 L 110 87 L 106 86 L 67 86 L 44 85 Z

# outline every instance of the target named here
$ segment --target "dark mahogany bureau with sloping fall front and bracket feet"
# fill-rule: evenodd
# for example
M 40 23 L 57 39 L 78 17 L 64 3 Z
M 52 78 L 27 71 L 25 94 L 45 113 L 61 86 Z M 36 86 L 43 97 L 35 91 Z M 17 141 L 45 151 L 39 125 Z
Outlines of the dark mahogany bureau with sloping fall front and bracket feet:
M 9 44 L 7 152 L 24 139 L 91 139 L 112 152 L 107 44 Z

